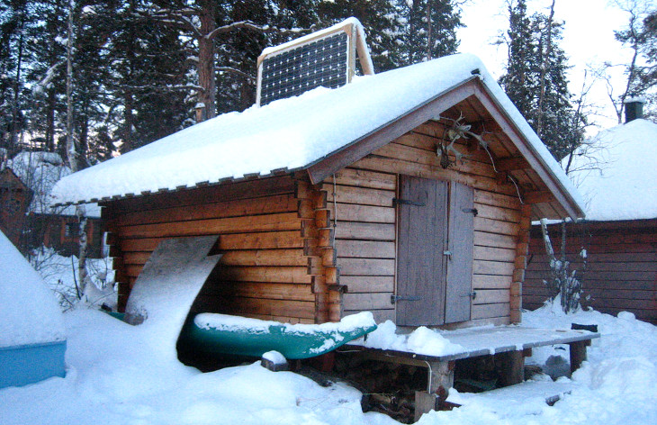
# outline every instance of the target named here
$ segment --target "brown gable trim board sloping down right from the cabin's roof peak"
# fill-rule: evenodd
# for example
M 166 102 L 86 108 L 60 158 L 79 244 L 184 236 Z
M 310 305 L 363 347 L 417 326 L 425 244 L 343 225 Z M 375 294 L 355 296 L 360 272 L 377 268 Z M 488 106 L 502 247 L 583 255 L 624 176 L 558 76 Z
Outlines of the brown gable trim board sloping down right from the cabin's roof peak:
M 554 176 L 550 167 L 545 164 L 541 156 L 531 146 L 531 143 L 524 137 L 522 131 L 518 129 L 513 120 L 509 117 L 495 97 L 483 84 L 475 86 L 474 95 L 482 102 L 486 109 L 491 113 L 493 119 L 500 125 L 501 129 L 509 135 L 509 139 L 516 146 L 520 154 L 527 159 L 527 163 L 534 169 L 536 174 L 541 178 L 547 189 L 554 194 L 558 203 L 560 203 L 565 212 L 573 219 L 577 220 L 584 216 L 577 202 L 569 194 L 568 190 L 563 187 L 559 179 Z

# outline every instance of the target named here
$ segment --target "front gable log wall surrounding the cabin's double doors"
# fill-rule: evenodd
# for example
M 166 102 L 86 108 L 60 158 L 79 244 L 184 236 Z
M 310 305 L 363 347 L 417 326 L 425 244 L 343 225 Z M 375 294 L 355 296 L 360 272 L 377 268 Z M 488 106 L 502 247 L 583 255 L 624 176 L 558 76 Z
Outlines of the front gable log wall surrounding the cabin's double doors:
M 338 267 L 347 285 L 345 313 L 374 311 L 377 319 L 392 319 L 395 277 L 396 176 L 455 180 L 474 188 L 478 215 L 474 219 L 473 290 L 477 293 L 471 323 L 511 321 L 511 283 L 520 283 L 517 260 L 521 229 L 516 187 L 501 181 L 491 159 L 481 149 L 460 145 L 470 157 L 444 169 L 436 155 L 443 128 L 425 123 L 336 175 Z M 333 192 L 329 177 L 322 187 Z M 356 204 L 356 194 L 365 199 Z M 333 198 L 329 197 L 329 204 Z M 330 207 L 330 205 L 329 205 Z M 527 226 L 525 226 L 527 227 Z M 518 293 L 520 285 L 514 291 Z M 518 303 L 514 305 L 518 310 Z M 514 319 L 516 320 L 516 319 Z

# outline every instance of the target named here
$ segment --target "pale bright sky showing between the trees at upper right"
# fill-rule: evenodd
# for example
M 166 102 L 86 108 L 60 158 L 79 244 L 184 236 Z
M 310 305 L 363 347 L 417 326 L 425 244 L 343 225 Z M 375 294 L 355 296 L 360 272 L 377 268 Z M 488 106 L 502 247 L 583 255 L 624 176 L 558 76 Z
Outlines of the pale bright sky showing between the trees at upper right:
M 646 4 L 649 2 L 646 0 Z M 527 7 L 529 12 L 549 14 L 551 3 L 551 0 L 528 0 Z M 460 51 L 479 56 L 494 77 L 500 77 L 504 71 L 507 47 L 491 43 L 499 39 L 500 31 L 506 32 L 509 28 L 508 14 L 506 0 L 469 0 L 464 5 L 462 20 L 467 27 L 459 31 Z M 629 15 L 612 1 L 556 0 L 554 16 L 564 23 L 561 47 L 572 66 L 568 77 L 573 95 L 581 93 L 587 68 L 599 68 L 605 62 L 624 64 L 631 59 L 632 51 L 614 38 L 614 31 L 626 25 Z M 612 68 L 609 74 L 615 95 L 622 93 L 626 84 L 623 68 Z M 587 82 L 591 81 L 589 72 Z M 597 126 L 589 130 L 591 135 L 617 125 L 604 81 L 593 84 L 588 100 L 600 108 L 599 114 L 593 118 Z

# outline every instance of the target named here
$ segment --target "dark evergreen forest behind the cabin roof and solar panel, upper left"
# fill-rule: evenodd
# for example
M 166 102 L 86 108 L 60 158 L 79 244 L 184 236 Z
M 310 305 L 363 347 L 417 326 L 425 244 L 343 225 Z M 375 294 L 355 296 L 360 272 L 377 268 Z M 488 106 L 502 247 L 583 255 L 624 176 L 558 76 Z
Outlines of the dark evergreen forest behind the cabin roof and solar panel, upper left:
M 356 16 L 383 72 L 455 53 L 455 0 L 10 0 L 0 4 L 0 148 L 67 158 L 67 23 L 72 131 L 80 167 L 255 102 L 257 57 Z M 430 22 L 427 18 L 430 17 Z

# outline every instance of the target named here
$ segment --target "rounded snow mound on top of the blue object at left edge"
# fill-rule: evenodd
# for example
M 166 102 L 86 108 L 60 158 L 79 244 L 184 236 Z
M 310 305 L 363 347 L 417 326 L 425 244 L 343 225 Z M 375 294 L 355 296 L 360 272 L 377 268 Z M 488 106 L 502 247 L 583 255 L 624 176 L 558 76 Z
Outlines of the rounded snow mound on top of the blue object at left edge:
M 64 321 L 52 294 L 14 244 L 0 231 L 0 348 L 65 339 Z

